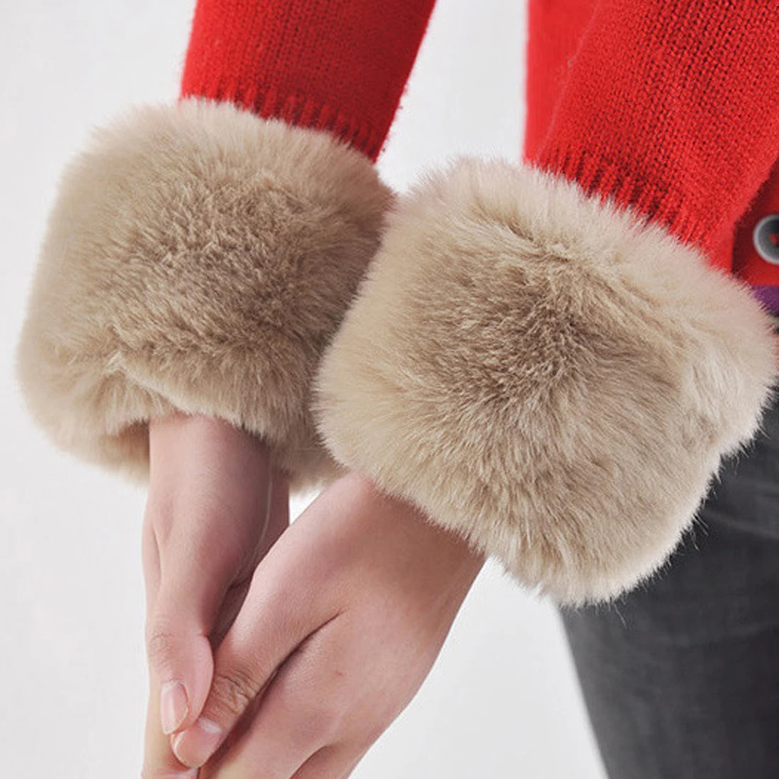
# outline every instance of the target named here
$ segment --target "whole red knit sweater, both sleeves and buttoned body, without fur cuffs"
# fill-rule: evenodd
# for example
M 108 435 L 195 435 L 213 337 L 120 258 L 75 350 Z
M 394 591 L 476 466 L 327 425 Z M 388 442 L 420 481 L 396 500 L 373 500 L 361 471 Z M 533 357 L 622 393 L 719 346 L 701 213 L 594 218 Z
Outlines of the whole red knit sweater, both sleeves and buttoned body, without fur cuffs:
M 326 129 L 375 160 L 434 2 L 199 0 L 182 96 Z M 779 287 L 753 244 L 779 212 L 774 0 L 529 0 L 528 19 L 524 157 Z

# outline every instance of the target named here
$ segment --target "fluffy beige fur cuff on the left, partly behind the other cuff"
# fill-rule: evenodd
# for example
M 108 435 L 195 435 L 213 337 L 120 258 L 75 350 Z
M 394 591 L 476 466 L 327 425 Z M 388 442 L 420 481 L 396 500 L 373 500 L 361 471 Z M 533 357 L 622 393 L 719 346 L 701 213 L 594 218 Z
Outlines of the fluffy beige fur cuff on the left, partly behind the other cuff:
M 65 171 L 16 366 L 58 446 L 148 476 L 174 409 L 263 436 L 298 488 L 329 478 L 309 410 L 323 348 L 392 195 L 367 157 L 229 104 L 136 109 Z

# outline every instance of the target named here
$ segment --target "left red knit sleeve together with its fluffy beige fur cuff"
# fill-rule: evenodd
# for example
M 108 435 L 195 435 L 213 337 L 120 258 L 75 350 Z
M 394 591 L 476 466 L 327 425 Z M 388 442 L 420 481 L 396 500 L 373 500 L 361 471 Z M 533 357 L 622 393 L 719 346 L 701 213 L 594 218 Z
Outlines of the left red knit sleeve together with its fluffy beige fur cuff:
M 432 7 L 198 0 L 180 99 L 97 129 L 58 189 L 16 358 L 52 441 L 145 482 L 148 422 L 182 411 L 262 438 L 293 491 L 340 473 L 311 383 Z

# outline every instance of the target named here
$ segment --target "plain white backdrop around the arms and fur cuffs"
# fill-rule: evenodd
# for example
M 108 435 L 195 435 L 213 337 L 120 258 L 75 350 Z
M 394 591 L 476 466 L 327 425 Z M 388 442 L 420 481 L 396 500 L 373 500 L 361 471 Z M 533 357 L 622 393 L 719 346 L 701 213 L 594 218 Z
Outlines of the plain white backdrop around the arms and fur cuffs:
M 192 0 L 0 7 L 0 767 L 137 777 L 144 495 L 51 448 L 12 356 L 63 164 L 128 104 L 174 100 Z M 523 0 L 439 2 L 380 160 L 387 182 L 404 189 L 457 153 L 519 158 L 525 12 Z M 428 682 L 354 777 L 603 775 L 557 615 L 488 566 Z

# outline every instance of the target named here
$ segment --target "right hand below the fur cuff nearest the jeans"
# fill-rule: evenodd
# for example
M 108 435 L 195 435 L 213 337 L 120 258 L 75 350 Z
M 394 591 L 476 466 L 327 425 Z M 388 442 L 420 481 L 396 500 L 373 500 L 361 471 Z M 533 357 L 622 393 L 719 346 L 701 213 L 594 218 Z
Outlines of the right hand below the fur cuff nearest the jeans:
M 259 563 L 179 760 L 205 764 L 200 779 L 347 777 L 421 686 L 482 562 L 358 474 L 334 482 Z

